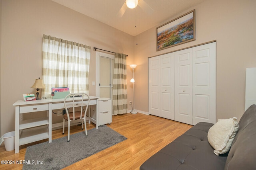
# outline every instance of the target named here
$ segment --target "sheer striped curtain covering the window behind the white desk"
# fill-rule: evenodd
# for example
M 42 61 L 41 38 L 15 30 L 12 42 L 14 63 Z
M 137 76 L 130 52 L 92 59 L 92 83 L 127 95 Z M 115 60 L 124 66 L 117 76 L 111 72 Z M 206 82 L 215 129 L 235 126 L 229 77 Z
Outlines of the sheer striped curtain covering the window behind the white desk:
M 42 96 L 51 97 L 51 88 L 68 87 L 70 93 L 89 93 L 90 47 L 50 35 L 43 36 Z

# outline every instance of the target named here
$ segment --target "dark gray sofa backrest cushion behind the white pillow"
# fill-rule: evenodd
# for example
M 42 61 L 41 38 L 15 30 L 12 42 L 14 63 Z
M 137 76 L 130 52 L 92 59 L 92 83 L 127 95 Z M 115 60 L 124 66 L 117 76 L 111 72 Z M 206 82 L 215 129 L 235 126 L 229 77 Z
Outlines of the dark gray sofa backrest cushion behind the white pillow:
M 225 170 L 256 170 L 256 105 L 250 106 L 228 153 Z

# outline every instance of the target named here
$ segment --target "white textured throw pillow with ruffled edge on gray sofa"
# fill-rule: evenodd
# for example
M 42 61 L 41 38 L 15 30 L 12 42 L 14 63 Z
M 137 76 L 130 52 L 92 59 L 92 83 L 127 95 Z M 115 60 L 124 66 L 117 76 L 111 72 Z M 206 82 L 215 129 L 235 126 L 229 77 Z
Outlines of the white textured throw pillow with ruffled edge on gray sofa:
M 215 149 L 216 155 L 224 154 L 230 150 L 236 132 L 238 123 L 236 117 L 230 119 L 218 119 L 208 131 L 208 141 Z

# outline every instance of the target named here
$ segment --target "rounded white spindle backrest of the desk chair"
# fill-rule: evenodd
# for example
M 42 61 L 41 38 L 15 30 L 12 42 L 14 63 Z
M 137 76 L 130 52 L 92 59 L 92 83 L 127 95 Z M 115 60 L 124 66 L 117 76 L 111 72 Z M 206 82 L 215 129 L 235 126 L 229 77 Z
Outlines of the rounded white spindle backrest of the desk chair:
M 84 104 L 84 100 L 86 101 L 86 104 Z M 86 115 L 88 106 L 90 102 L 90 97 L 86 93 L 71 93 L 66 98 L 64 98 L 64 106 L 65 110 L 68 116 L 68 120 L 70 120 L 69 114 L 68 114 L 68 108 L 73 108 L 73 119 L 75 120 L 75 107 L 81 107 L 80 110 L 80 119 L 82 118 L 82 112 L 83 112 L 83 106 L 86 105 L 86 109 L 84 111 L 84 116 Z

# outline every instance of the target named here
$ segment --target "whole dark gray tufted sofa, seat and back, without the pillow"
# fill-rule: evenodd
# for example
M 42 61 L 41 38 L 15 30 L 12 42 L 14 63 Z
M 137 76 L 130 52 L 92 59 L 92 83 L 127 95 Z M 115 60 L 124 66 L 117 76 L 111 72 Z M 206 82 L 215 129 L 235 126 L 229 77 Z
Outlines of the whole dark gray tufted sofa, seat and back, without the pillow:
M 166 145 L 140 170 L 256 170 L 256 105 L 239 121 L 230 151 L 217 156 L 208 142 L 212 123 L 200 122 Z

